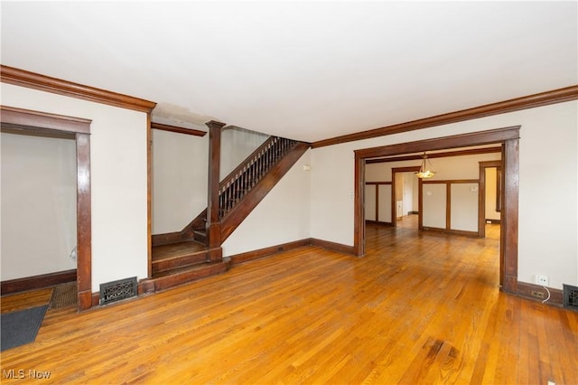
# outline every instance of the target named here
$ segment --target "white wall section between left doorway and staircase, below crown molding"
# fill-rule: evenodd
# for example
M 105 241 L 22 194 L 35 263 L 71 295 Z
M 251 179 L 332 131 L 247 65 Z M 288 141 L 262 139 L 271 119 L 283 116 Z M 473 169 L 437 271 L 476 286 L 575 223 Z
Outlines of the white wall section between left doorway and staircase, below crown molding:
M 92 119 L 92 291 L 147 277 L 147 117 L 144 112 L 0 83 L 2 104 Z

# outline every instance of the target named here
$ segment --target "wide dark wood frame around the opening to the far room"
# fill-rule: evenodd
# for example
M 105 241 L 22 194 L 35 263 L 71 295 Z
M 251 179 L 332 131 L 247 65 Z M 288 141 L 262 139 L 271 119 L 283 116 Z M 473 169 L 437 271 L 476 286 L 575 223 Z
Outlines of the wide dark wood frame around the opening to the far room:
M 416 142 L 364 148 L 355 151 L 355 199 L 353 250 L 365 254 L 365 162 L 378 156 L 402 155 L 466 146 L 502 144 L 503 207 L 500 233 L 500 284 L 509 293 L 517 293 L 517 231 L 519 192 L 520 126 L 503 127 L 455 136 L 443 136 Z M 503 258 L 501 256 L 503 255 Z

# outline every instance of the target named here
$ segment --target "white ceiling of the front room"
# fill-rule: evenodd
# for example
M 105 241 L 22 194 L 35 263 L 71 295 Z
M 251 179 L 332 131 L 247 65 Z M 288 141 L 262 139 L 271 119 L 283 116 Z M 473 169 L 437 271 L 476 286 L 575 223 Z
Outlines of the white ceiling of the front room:
M 578 83 L 578 3 L 7 2 L 4 65 L 316 141 Z

